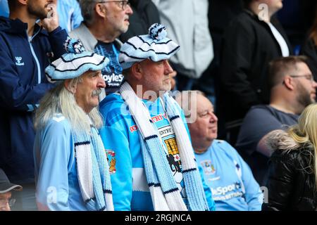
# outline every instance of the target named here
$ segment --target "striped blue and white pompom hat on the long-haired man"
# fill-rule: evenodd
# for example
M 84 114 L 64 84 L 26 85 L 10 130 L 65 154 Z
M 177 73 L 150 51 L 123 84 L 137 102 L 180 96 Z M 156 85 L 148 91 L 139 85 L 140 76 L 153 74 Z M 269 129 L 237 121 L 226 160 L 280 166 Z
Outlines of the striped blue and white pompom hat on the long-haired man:
M 67 53 L 45 69 L 49 82 L 80 77 L 88 70 L 101 70 L 109 63 L 108 58 L 85 51 L 84 46 L 77 39 L 68 37 L 64 46 Z

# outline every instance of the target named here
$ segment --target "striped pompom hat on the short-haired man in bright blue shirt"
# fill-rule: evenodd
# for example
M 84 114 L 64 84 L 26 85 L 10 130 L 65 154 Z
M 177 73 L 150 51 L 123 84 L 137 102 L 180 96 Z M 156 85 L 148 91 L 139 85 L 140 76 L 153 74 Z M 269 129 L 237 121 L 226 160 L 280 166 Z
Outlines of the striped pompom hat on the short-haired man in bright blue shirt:
M 133 63 L 149 58 L 154 62 L 173 56 L 180 46 L 166 37 L 166 27 L 155 23 L 149 27 L 149 34 L 139 35 L 128 39 L 121 46 L 119 62 L 123 70 L 130 68 Z

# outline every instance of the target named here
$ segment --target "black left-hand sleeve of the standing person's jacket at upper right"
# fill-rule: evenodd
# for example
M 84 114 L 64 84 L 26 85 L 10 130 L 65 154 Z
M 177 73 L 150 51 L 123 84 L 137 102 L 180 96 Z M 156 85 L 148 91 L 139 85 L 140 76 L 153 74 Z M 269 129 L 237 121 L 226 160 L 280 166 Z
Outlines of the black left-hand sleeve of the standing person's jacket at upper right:
M 242 22 L 235 23 L 227 30 L 223 38 L 221 82 L 225 90 L 230 92 L 233 100 L 243 110 L 259 103 L 259 98 L 248 79 L 255 38 L 254 29 Z

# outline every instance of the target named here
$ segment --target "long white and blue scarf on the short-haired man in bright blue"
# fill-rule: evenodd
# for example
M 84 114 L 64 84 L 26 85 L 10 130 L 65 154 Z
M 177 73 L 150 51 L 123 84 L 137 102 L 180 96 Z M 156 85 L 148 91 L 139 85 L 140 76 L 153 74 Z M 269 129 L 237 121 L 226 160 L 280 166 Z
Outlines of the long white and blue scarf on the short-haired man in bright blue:
M 166 153 L 159 139 L 159 131 L 151 120 L 149 110 L 143 101 L 137 97 L 128 82 L 120 86 L 120 95 L 128 105 L 139 130 L 144 169 L 154 210 L 186 211 L 187 207 L 170 171 Z M 175 108 L 175 100 L 166 93 L 163 96 L 162 104 L 166 108 L 166 114 L 178 143 L 189 209 L 193 211 L 209 210 L 194 158 L 194 150 L 178 109 Z

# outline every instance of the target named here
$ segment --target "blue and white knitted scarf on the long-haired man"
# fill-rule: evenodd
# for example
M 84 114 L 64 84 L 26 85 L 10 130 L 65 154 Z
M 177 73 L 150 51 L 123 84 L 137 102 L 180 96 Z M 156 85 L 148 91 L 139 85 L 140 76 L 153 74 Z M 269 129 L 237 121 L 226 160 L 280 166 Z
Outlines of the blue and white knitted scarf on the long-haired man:
M 77 176 L 82 198 L 89 211 L 113 211 L 109 165 L 99 132 L 73 132 Z

